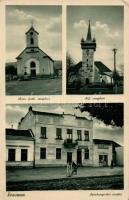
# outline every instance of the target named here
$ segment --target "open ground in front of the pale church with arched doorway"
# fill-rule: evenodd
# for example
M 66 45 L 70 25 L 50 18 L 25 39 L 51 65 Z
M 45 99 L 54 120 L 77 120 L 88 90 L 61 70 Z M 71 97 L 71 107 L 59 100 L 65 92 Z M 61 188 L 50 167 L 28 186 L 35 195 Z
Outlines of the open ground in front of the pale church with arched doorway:
M 6 82 L 6 95 L 58 94 L 62 94 L 61 78 Z

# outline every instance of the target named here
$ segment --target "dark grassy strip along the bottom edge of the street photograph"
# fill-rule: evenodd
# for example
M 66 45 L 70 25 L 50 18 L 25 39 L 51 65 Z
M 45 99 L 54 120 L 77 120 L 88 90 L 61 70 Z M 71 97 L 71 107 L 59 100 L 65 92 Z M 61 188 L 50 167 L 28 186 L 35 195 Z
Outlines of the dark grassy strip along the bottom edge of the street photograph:
M 7 182 L 7 191 L 32 191 L 32 190 L 109 190 L 123 189 L 122 175 L 63 178 L 43 181 Z

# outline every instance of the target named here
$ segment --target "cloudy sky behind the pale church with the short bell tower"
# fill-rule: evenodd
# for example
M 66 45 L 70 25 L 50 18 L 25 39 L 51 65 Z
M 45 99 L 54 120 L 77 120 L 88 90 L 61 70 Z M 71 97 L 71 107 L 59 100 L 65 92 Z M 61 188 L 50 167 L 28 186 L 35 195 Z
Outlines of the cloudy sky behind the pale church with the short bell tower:
M 61 60 L 61 6 L 6 6 L 6 62 L 26 47 L 25 32 L 33 22 L 39 32 L 39 47 L 54 60 Z

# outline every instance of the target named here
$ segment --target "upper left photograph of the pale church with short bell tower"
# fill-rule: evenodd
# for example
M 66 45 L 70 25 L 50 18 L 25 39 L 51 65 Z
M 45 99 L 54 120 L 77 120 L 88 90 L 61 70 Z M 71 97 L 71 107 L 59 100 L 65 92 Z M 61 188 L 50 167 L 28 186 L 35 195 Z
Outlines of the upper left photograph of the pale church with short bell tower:
M 6 95 L 62 94 L 62 7 L 6 6 Z

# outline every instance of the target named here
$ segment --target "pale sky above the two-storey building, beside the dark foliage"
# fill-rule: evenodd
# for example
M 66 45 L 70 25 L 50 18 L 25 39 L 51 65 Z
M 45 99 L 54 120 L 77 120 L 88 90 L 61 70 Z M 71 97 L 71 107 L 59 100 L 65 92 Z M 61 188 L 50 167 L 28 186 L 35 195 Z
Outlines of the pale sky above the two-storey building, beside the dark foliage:
M 65 113 L 76 114 L 76 116 L 83 116 L 91 119 L 88 112 L 81 113 L 79 109 L 75 109 L 78 104 L 32 104 L 33 110 L 52 112 L 52 113 Z M 18 122 L 24 117 L 29 108 L 29 104 L 8 104 L 6 105 L 6 128 L 17 129 Z M 103 122 L 93 119 L 93 137 L 96 139 L 113 140 L 120 145 L 123 145 L 123 128 L 106 126 Z

